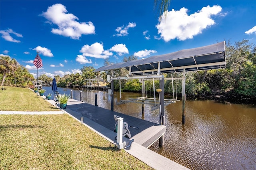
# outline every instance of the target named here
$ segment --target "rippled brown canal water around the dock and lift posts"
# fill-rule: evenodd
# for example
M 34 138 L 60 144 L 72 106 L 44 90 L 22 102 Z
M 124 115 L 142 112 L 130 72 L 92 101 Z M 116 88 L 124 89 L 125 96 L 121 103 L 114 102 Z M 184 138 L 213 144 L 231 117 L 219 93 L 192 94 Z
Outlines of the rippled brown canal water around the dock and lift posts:
M 44 87 L 52 93 L 51 87 Z M 59 88 L 60 93 L 70 94 L 70 88 Z M 80 91 L 73 90 L 73 98 L 80 100 Z M 45 94 L 46 94 L 45 93 Z M 83 91 L 83 101 L 110 109 L 111 97 L 107 91 Z M 122 92 L 122 99 L 141 96 L 140 93 Z M 149 97 L 149 96 L 148 96 Z M 53 96 L 52 96 L 53 99 Z M 114 92 L 114 111 L 159 123 L 159 110 L 151 111 L 145 105 L 126 103 L 116 105 L 119 92 Z M 256 169 L 256 106 L 219 103 L 213 100 L 186 101 L 186 123 L 182 125 L 182 101 L 164 107 L 166 133 L 164 146 L 158 142 L 150 146 L 157 152 L 190 169 Z M 114 118 L 113 118 L 114 119 Z M 132 122 L 128 122 L 132 126 Z

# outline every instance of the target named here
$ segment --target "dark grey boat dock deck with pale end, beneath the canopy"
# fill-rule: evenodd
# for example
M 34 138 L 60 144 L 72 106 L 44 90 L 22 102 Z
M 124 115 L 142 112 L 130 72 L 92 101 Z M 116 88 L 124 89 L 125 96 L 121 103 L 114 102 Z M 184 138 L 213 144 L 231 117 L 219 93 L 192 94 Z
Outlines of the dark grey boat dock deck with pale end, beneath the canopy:
M 114 120 L 114 115 L 118 115 L 124 118 L 124 122 L 127 122 L 128 125 L 139 128 L 129 128 L 132 135 L 130 140 L 134 139 L 134 142 L 146 148 L 156 142 L 162 135 L 164 135 L 164 132 L 166 131 L 166 126 L 164 125 L 159 125 L 156 123 L 138 119 L 136 117 L 131 117 L 129 115 L 90 105 L 88 103 L 74 102 L 72 102 L 72 99 L 70 99 L 67 108 L 77 113 L 80 113 L 82 117 L 86 117 L 91 121 L 98 123 L 99 125 L 102 125 L 103 127 L 106 127 L 113 131 L 116 123 Z

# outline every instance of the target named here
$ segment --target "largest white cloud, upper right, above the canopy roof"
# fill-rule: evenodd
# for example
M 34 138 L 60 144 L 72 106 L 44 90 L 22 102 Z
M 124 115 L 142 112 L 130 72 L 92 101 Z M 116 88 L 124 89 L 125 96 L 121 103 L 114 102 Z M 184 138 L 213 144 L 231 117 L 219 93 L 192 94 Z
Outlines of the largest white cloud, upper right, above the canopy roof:
M 194 14 L 188 15 L 188 9 L 169 11 L 162 16 L 162 20 L 156 25 L 158 34 L 165 42 L 177 38 L 178 40 L 192 39 L 193 36 L 201 34 L 202 30 L 215 24 L 211 18 L 213 15 L 220 14 L 221 6 L 206 6 Z

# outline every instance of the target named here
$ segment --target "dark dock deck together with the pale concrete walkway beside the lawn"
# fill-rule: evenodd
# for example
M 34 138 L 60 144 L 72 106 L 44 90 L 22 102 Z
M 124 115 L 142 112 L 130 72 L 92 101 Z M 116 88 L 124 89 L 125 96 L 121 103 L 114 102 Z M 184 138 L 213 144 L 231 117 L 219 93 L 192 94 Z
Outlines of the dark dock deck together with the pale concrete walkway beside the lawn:
M 55 105 L 53 100 L 48 100 L 48 102 Z M 114 115 L 118 115 L 124 118 L 124 122 L 127 122 L 128 125 L 139 127 L 139 129 L 129 128 L 132 134 L 130 139 L 123 137 L 123 141 L 126 142 L 126 145 L 129 144 L 130 140 L 134 139 L 131 146 L 124 149 L 126 152 L 154 169 L 188 170 L 188 168 L 147 148 L 159 138 L 158 136 L 162 136 L 165 132 L 166 127 L 163 125 L 158 125 L 156 123 L 124 115 L 122 113 L 110 111 L 108 109 L 76 101 L 74 99 L 69 99 L 67 108 L 62 111 L 70 114 L 78 120 L 80 120 L 80 117 L 84 117 L 85 126 L 106 138 L 113 144 L 116 144 L 117 142 L 115 139 L 117 134 L 114 132 Z

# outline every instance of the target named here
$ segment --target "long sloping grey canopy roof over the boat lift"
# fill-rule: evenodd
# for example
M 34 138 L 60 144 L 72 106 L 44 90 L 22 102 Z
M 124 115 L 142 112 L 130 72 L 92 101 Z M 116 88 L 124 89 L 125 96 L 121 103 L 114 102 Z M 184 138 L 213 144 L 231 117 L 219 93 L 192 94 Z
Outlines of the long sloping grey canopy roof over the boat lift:
M 184 69 L 199 71 L 226 68 L 225 42 L 106 65 L 96 69 L 95 72 L 119 68 L 126 68 L 133 75 L 174 73 Z

